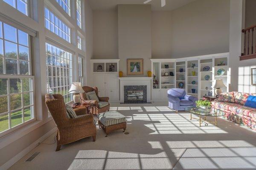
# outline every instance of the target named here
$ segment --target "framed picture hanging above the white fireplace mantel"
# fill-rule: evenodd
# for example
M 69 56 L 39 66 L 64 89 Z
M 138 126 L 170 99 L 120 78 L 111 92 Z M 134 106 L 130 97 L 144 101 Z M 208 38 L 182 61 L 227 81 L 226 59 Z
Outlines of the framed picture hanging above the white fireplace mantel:
M 127 75 L 143 75 L 143 59 L 127 59 Z

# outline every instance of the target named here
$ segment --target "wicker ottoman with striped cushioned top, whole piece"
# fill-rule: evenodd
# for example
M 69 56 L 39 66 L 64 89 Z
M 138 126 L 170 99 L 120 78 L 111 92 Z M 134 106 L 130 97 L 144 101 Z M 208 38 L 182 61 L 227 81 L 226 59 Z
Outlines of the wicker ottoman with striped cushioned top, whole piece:
M 125 132 L 126 129 L 126 119 L 125 116 L 116 111 L 103 112 L 97 115 L 98 124 L 101 127 L 108 137 L 108 134 L 115 131 L 123 129 Z

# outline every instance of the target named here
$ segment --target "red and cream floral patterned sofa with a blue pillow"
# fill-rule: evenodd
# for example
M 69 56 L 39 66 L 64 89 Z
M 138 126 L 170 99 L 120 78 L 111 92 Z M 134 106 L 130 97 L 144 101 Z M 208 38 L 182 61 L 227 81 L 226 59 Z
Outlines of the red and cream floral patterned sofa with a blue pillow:
M 216 112 L 224 112 L 228 120 L 256 130 L 256 108 L 244 106 L 249 95 L 256 96 L 256 93 L 221 93 L 219 98 L 212 101 L 211 106 Z

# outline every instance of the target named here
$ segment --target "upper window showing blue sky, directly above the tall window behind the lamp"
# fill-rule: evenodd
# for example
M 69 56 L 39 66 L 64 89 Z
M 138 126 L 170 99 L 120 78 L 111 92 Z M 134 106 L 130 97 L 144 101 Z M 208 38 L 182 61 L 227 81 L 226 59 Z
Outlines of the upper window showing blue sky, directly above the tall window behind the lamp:
M 58 19 L 58 17 L 50 12 L 46 7 L 44 8 L 44 19 L 45 28 L 49 29 L 51 32 L 70 43 L 70 27 Z

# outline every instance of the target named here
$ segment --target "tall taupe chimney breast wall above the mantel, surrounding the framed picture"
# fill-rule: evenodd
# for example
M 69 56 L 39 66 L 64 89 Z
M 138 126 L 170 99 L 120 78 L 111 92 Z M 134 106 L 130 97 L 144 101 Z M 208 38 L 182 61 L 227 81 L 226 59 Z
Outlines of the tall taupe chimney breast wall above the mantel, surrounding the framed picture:
M 119 70 L 127 75 L 126 59 L 143 58 L 144 76 L 151 70 L 151 6 L 118 5 Z

